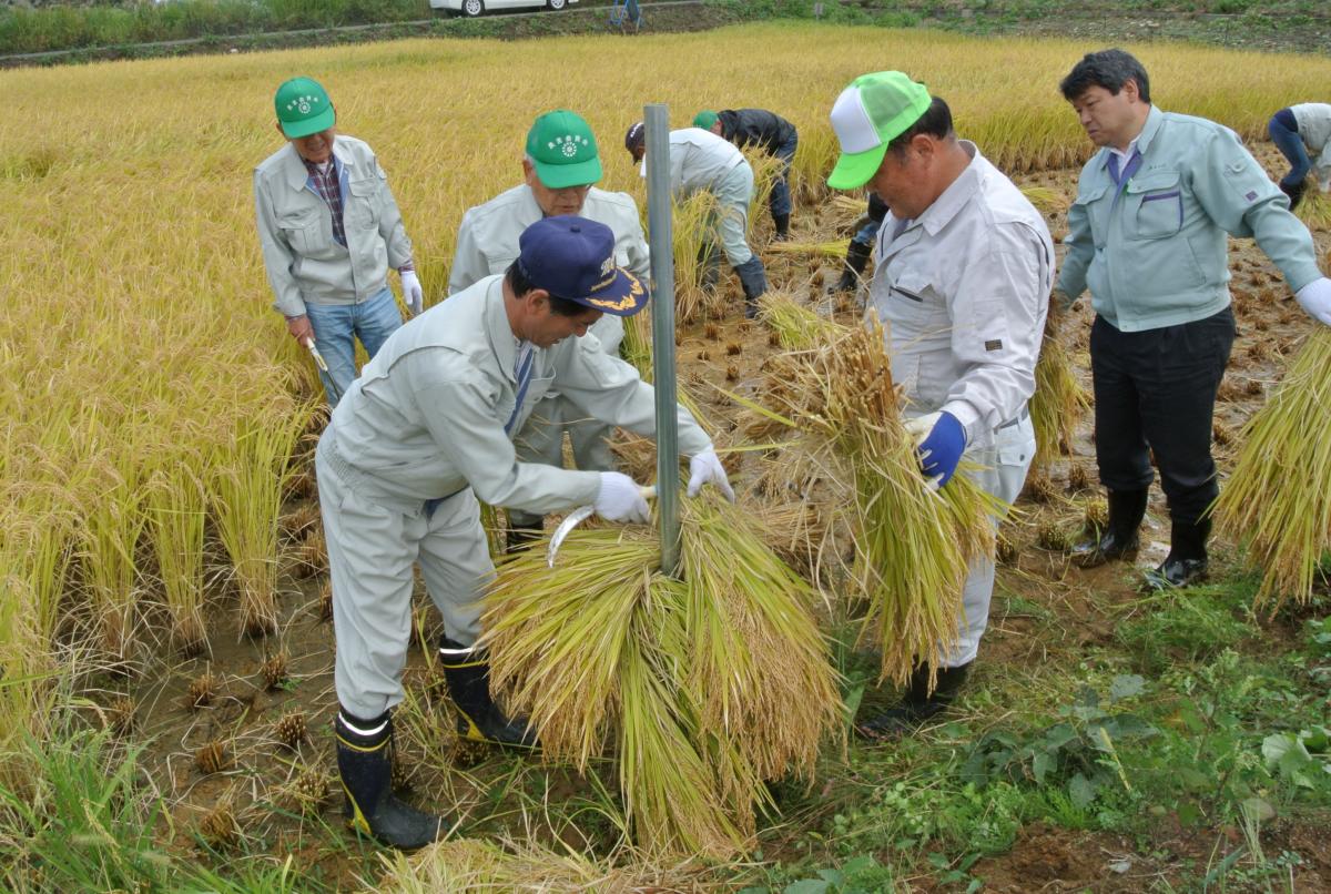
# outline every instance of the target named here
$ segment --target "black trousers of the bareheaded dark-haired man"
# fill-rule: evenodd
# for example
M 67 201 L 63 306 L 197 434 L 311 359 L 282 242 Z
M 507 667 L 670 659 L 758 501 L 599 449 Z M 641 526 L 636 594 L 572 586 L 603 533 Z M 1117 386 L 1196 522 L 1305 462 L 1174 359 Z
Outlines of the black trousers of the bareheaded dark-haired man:
M 1150 487 L 1150 451 L 1174 522 L 1195 524 L 1219 495 L 1211 458 L 1215 392 L 1234 347 L 1234 311 L 1122 333 L 1095 317 L 1095 460 L 1111 491 Z

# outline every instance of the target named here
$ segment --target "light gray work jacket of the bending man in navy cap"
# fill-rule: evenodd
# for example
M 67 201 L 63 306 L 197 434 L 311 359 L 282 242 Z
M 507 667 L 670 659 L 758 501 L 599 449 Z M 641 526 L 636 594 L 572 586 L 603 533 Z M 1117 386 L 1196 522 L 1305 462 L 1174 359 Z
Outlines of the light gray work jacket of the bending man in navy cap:
M 503 277 L 486 277 L 393 333 L 333 411 L 319 451 L 363 498 L 405 512 L 471 487 L 491 506 L 531 514 L 592 503 L 599 472 L 518 462 L 512 435 L 558 383 L 594 419 L 656 434 L 655 392 L 608 357 L 595 335 L 532 349 L 532 376 L 518 403 L 519 343 L 504 309 Z M 679 407 L 679 450 L 711 439 Z

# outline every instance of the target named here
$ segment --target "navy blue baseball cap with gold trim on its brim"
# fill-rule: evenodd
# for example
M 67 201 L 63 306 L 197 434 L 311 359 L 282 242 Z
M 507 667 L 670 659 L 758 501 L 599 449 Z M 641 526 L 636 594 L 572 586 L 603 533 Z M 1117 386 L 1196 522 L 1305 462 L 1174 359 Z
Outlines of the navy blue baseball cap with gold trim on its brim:
M 615 265 L 615 234 L 586 217 L 546 217 L 518 237 L 518 267 L 536 289 L 615 317 L 647 305 L 642 281 Z

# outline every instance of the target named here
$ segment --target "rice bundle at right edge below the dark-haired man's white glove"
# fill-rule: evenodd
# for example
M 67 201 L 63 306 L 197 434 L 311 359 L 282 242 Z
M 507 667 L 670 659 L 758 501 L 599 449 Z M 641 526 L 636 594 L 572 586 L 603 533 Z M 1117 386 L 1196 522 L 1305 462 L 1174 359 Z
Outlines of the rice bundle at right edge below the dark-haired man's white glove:
M 1213 508 L 1219 532 L 1264 569 L 1256 604 L 1304 604 L 1331 549 L 1331 331 L 1318 327 L 1243 427 Z

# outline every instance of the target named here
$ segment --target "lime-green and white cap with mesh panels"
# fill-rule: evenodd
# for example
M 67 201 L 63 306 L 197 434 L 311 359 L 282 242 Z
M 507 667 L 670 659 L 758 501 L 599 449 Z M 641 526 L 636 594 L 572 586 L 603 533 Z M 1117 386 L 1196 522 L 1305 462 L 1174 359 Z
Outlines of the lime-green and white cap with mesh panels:
M 828 186 L 858 189 L 869 182 L 888 144 L 918 121 L 930 102 L 928 88 L 901 72 L 874 72 L 851 81 L 832 106 L 841 157 L 828 176 Z

